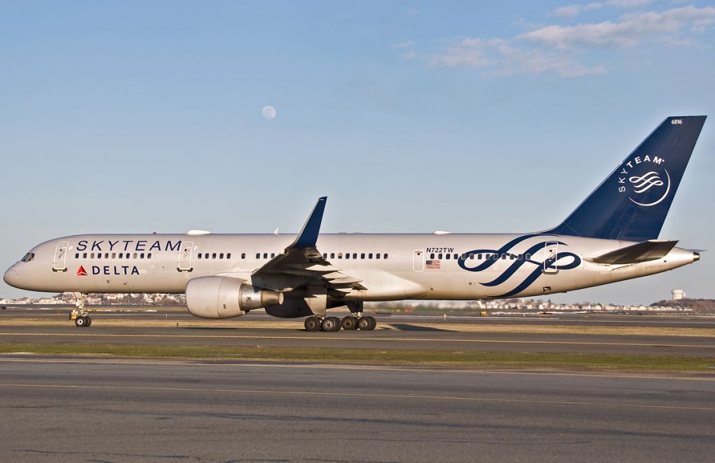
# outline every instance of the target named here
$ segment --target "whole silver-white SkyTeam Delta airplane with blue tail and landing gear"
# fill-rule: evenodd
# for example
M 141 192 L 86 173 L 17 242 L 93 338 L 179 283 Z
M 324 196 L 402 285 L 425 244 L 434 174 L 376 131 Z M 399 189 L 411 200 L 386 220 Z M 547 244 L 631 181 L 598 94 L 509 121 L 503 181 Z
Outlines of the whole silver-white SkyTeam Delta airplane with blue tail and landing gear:
M 66 236 L 36 245 L 4 281 L 75 293 L 78 327 L 92 324 L 89 293 L 185 293 L 200 318 L 263 308 L 330 332 L 374 329 L 365 302 L 544 296 L 653 275 L 700 259 L 658 237 L 705 120 L 667 117 L 563 223 L 543 231 L 320 233 L 322 197 L 297 235 Z M 345 306 L 342 320 L 327 315 Z

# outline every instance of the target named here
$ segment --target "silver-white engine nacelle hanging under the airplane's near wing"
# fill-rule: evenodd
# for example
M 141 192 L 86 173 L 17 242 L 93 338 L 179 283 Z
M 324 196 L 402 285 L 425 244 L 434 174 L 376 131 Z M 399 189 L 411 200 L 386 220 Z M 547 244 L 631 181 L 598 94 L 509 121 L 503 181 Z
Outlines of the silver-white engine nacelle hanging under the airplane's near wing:
M 254 288 L 245 280 L 227 276 L 192 278 L 186 287 L 189 313 L 200 318 L 231 318 L 247 311 L 283 303 L 283 293 Z

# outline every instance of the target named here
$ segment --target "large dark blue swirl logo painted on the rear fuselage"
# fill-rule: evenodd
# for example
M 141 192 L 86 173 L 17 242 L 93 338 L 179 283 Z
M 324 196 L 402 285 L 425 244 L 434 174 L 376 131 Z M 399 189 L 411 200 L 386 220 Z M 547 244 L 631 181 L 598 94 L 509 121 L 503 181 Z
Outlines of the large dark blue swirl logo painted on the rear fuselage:
M 506 268 L 492 281 L 480 283 L 482 286 L 488 287 L 498 286 L 502 283 L 506 283 L 510 278 L 515 276 L 515 274 L 524 265 L 528 265 L 528 268 L 531 271 L 528 272 L 528 275 L 526 275 L 526 277 L 524 277 L 523 272 L 520 272 L 518 278 L 523 277 L 523 279 L 516 283 L 516 285 L 510 291 L 507 291 L 503 294 L 499 294 L 498 296 L 491 296 L 493 298 L 508 298 L 514 296 L 515 294 L 521 293 L 521 291 L 524 291 L 531 285 L 531 283 L 533 283 L 541 275 L 543 275 L 544 271 L 546 271 L 547 273 L 548 271 L 565 271 L 577 268 L 578 265 L 581 265 L 581 258 L 579 258 L 578 255 L 574 253 L 569 253 L 568 251 L 558 251 L 558 248 L 560 248 L 561 246 L 567 246 L 566 243 L 563 243 L 558 240 L 539 241 L 538 243 L 531 245 L 526 250 L 520 251 L 518 253 L 512 252 L 513 248 L 516 247 L 516 245 L 522 243 L 525 240 L 528 240 L 529 238 L 543 238 L 549 236 L 556 237 L 557 235 L 546 235 L 541 233 L 536 233 L 533 235 L 523 235 L 519 238 L 515 238 L 509 241 L 499 249 L 470 250 L 466 253 L 463 253 L 463 255 L 460 255 L 458 264 L 465 271 L 483 272 L 488 271 L 498 262 L 509 263 L 508 268 Z M 549 253 L 546 248 L 550 247 L 551 245 L 553 245 L 556 250 L 553 250 L 552 253 Z M 533 258 L 533 256 L 541 250 L 544 251 L 543 260 L 539 261 L 536 260 L 536 258 Z M 468 264 L 472 261 L 472 259 L 469 258 L 470 254 L 485 254 L 487 258 L 486 260 L 478 260 L 477 265 L 470 267 L 468 266 Z M 521 258 L 519 258 L 519 256 L 521 256 Z

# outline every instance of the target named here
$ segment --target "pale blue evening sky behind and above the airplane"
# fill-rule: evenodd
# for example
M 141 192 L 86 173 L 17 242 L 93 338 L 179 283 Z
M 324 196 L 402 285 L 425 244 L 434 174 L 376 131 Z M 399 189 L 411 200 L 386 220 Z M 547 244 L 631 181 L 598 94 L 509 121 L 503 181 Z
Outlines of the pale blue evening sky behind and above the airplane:
M 0 266 L 295 231 L 320 195 L 326 232 L 548 228 L 664 117 L 713 115 L 714 45 L 711 1 L 0 1 Z M 714 147 L 709 120 L 661 238 L 715 250 Z M 552 300 L 715 298 L 713 259 Z

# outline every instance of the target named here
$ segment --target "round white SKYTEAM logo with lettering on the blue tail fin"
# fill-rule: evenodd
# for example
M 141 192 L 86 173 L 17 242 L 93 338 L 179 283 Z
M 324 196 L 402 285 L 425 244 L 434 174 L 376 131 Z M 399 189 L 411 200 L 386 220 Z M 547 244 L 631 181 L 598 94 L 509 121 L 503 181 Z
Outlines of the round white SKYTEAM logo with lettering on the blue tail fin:
M 618 172 L 618 192 L 628 191 L 628 199 L 645 208 L 661 203 L 667 198 L 671 186 L 668 170 L 657 168 L 664 162 L 662 157 L 651 158 L 649 155 L 623 162 Z M 656 170 L 651 170 L 654 167 Z M 643 173 L 637 175 L 633 170 Z

